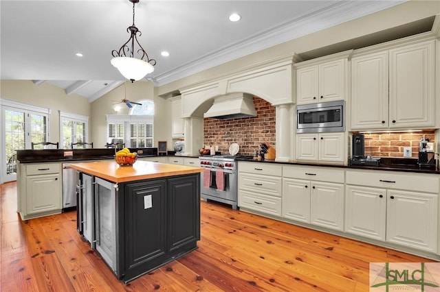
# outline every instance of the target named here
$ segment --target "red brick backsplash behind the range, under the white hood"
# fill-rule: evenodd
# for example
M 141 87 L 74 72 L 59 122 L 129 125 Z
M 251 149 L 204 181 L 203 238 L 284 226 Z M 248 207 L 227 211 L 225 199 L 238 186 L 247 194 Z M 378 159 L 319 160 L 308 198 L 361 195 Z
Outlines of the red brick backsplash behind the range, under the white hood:
M 229 154 L 229 146 L 237 143 L 240 155 L 253 155 L 263 141 L 275 147 L 275 107 L 259 97 L 254 97 L 254 106 L 256 117 L 203 119 L 203 145 L 217 145 L 221 154 Z

